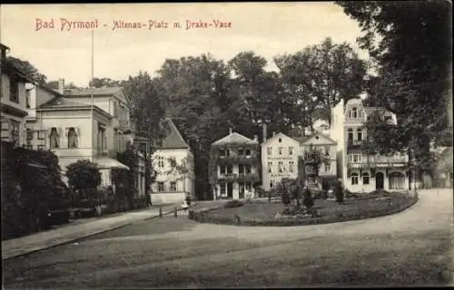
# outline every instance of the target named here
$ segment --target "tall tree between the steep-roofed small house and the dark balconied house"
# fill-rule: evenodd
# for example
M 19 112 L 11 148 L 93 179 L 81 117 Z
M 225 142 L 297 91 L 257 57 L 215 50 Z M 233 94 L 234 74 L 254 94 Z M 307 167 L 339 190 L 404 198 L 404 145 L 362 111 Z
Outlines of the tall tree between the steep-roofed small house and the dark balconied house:
M 228 108 L 227 67 L 210 54 L 202 54 L 166 60 L 158 73 L 167 115 L 194 150 L 196 192 L 205 195 L 211 191 L 207 175 L 210 145 L 225 135 L 222 129 L 228 126 L 222 117 Z

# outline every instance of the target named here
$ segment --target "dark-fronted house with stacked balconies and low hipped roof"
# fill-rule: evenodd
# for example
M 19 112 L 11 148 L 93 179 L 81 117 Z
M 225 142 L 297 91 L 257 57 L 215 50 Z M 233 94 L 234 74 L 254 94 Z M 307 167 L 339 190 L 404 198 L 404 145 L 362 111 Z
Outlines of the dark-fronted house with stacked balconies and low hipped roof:
M 212 143 L 209 174 L 213 198 L 248 198 L 255 196 L 260 184 L 260 145 L 230 130 L 230 134 Z

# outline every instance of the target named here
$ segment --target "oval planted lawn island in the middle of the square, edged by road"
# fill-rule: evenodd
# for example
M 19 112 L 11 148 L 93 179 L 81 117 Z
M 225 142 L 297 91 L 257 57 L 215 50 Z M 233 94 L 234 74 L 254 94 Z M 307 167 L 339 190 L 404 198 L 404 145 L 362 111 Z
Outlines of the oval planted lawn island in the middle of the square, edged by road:
M 333 200 L 315 200 L 317 218 L 285 217 L 281 203 L 245 203 L 240 208 L 210 208 L 193 211 L 191 218 L 199 222 L 244 226 L 299 226 L 327 224 L 362 218 L 377 218 L 398 213 L 417 201 L 409 195 L 392 193 L 389 198 L 358 198 L 338 204 Z

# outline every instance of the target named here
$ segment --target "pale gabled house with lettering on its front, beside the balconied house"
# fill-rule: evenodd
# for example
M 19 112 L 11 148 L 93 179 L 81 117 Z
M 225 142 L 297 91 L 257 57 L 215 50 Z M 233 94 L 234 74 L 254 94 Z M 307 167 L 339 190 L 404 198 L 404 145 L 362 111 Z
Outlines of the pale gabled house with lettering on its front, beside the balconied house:
M 282 179 L 298 178 L 300 143 L 283 133 L 262 142 L 262 189 L 275 189 Z

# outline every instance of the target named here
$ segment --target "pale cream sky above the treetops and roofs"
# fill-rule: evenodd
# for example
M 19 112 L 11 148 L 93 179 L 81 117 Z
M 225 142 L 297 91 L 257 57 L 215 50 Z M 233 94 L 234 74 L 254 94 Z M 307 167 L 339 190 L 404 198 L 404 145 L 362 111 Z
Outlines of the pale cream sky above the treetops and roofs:
M 276 70 L 274 56 L 326 37 L 350 43 L 361 58 L 368 57 L 356 44 L 359 25 L 331 2 L 1 5 L 0 43 L 11 49 L 8 55 L 35 65 L 47 81 L 63 78 L 87 86 L 92 29 L 78 27 L 80 22 L 97 22 L 94 77 L 114 80 L 140 71 L 154 76 L 165 59 L 202 53 L 227 62 L 253 51 L 267 59 L 267 70 Z M 143 27 L 119 28 L 121 22 Z M 187 29 L 188 22 L 197 24 Z M 201 22 L 206 27 L 196 27 Z M 224 27 L 216 27 L 219 23 Z

